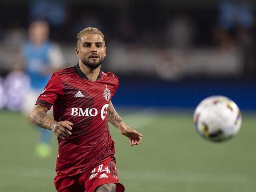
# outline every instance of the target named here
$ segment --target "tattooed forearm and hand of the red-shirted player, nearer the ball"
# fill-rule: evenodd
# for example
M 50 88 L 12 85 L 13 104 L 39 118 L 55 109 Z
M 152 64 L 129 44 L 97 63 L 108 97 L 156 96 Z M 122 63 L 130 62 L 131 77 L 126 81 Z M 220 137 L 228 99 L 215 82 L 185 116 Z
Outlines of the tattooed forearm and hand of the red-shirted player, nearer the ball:
M 108 106 L 108 121 L 118 128 L 122 135 L 125 135 L 129 138 L 130 145 L 138 145 L 141 143 L 142 135 L 136 130 L 128 127 L 117 114 L 115 108 L 113 107 L 112 102 L 109 102 Z

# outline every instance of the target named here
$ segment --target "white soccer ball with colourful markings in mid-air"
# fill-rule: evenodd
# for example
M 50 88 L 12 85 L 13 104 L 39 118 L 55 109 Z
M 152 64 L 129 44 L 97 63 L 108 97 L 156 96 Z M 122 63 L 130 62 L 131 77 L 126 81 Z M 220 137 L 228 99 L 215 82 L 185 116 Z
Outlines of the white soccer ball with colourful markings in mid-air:
M 232 138 L 242 123 L 238 106 L 225 96 L 203 99 L 195 109 L 193 120 L 199 135 L 214 142 Z

